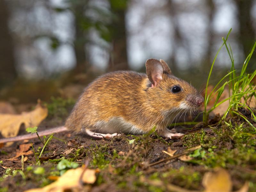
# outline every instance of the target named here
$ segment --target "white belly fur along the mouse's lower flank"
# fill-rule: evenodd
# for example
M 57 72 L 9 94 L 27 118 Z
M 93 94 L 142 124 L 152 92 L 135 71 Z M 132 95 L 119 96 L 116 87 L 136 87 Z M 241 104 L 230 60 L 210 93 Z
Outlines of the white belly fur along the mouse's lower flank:
M 122 132 L 125 134 L 144 134 L 143 130 L 139 129 L 135 125 L 128 123 L 124 120 L 123 117 L 113 117 L 108 122 L 106 121 L 98 121 L 95 126 L 97 127 L 96 130 L 93 130 L 95 132 L 99 133 L 116 133 L 116 132 Z

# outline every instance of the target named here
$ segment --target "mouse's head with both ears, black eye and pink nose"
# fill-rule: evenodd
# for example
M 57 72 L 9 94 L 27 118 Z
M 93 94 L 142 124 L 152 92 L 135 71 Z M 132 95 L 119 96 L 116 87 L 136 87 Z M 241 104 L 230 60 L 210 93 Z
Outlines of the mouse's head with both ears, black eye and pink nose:
M 149 102 L 161 112 L 193 111 L 204 102 L 191 84 L 172 75 L 164 60 L 148 59 L 146 72 Z

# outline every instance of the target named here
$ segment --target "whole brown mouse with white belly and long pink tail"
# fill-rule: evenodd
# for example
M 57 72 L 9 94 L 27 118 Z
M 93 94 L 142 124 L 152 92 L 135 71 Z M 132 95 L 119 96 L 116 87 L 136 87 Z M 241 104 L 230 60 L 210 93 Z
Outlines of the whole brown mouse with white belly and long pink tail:
M 146 73 L 115 71 L 98 77 L 84 89 L 64 126 L 38 134 L 71 130 L 102 139 L 119 133 L 146 134 L 155 128 L 159 136 L 172 138 L 183 134 L 169 132 L 167 125 L 198 110 L 203 102 L 196 88 L 174 76 L 164 60 L 148 59 Z M 32 135 L 5 138 L 0 143 L 31 139 Z

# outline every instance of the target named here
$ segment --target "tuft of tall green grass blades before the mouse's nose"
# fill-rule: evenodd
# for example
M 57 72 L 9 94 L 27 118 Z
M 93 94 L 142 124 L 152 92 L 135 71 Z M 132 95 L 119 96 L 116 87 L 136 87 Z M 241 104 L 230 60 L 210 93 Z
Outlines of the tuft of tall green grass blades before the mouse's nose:
M 224 115 L 222 116 L 222 120 L 225 120 L 228 114 L 230 116 L 236 114 L 236 115 L 241 116 L 242 118 L 244 118 L 245 121 L 247 121 L 252 127 L 254 127 L 247 120 L 247 118 L 238 111 L 238 108 L 247 108 L 251 112 L 253 119 L 256 121 L 256 117 L 255 117 L 252 109 L 248 107 L 248 105 L 251 102 L 252 97 L 255 95 L 255 91 L 256 91 L 255 90 L 256 86 L 254 86 L 252 84 L 252 79 L 256 75 L 256 70 L 254 70 L 254 72 L 252 72 L 251 74 L 246 73 L 248 63 L 249 63 L 249 61 L 252 57 L 252 54 L 255 50 L 255 47 L 256 47 L 256 42 L 254 43 L 254 45 L 252 47 L 252 51 L 250 52 L 250 54 L 247 56 L 246 60 L 244 61 L 244 64 L 243 64 L 243 67 L 241 69 L 240 74 L 237 75 L 237 70 L 235 69 L 235 66 L 234 66 L 234 58 L 233 58 L 232 49 L 231 49 L 230 44 L 227 44 L 228 36 L 229 36 L 231 30 L 232 29 L 229 30 L 228 35 L 227 35 L 226 38 L 222 38 L 223 44 L 220 46 L 220 48 L 219 48 L 219 50 L 218 50 L 218 52 L 217 52 L 217 54 L 216 54 L 216 56 L 215 56 L 215 58 L 212 62 L 212 66 L 211 66 L 211 69 L 210 69 L 210 73 L 209 73 L 207 83 L 206 83 L 206 88 L 205 88 L 205 97 L 204 97 L 205 102 L 204 102 L 203 122 L 204 122 L 204 124 L 207 124 L 209 113 L 212 112 L 215 108 L 217 108 L 219 105 L 221 105 L 225 101 L 229 100 L 228 109 L 225 111 Z M 207 95 L 207 88 L 208 88 L 208 85 L 209 85 L 210 77 L 212 75 L 212 69 L 213 69 L 215 60 L 216 60 L 216 58 L 217 58 L 217 56 L 218 56 L 218 54 L 219 54 L 219 52 L 220 52 L 220 50 L 222 49 L 223 46 L 226 47 L 229 58 L 231 60 L 230 72 L 228 72 L 223 78 L 221 78 L 221 80 L 215 85 L 215 87 L 210 92 L 210 94 Z M 223 81 L 226 80 L 227 78 L 229 78 L 228 81 L 223 83 Z M 219 101 L 220 96 L 222 95 L 225 86 L 229 87 L 229 97 L 224 99 L 224 100 Z M 217 94 L 217 97 L 216 97 L 216 100 L 214 102 L 214 105 L 211 109 L 209 109 L 207 111 L 206 107 L 207 107 L 209 101 L 215 96 L 215 94 Z M 242 98 L 244 99 L 243 102 L 241 102 Z M 254 127 L 254 129 L 256 130 L 255 127 Z

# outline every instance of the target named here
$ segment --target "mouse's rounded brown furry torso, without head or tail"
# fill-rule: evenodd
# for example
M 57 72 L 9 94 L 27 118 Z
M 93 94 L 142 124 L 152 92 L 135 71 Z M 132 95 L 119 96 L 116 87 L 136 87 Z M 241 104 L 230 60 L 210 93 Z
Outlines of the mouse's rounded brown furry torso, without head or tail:
M 146 74 L 133 71 L 117 71 L 99 77 L 85 89 L 66 126 L 99 133 L 148 132 L 154 123 L 163 120 L 163 115 L 149 104 L 150 99 L 145 100 L 148 82 Z

